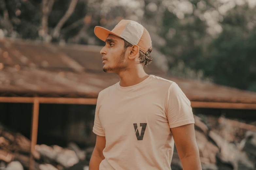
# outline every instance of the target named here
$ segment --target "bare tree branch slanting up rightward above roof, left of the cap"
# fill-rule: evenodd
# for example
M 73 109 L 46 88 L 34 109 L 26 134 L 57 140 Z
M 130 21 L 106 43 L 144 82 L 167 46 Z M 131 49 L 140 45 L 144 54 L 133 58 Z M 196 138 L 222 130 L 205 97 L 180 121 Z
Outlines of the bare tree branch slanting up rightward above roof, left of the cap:
M 72 0 L 65 15 L 60 19 L 59 23 L 56 25 L 56 27 L 53 30 L 52 36 L 54 38 L 58 37 L 60 35 L 60 29 L 62 26 L 65 24 L 65 22 L 69 19 L 69 17 L 72 15 L 74 12 L 76 6 L 77 6 L 77 1 L 78 0 Z

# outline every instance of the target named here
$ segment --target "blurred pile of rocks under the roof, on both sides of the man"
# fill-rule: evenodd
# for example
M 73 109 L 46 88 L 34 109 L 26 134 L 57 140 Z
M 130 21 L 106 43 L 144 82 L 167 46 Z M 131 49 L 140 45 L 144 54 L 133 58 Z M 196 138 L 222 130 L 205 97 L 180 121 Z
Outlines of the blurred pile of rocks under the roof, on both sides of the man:
M 196 142 L 203 170 L 256 170 L 256 126 L 224 117 L 195 115 Z M 30 140 L 0 126 L 0 170 L 28 170 Z M 93 148 L 36 145 L 31 170 L 87 170 Z M 172 170 L 182 170 L 177 150 Z

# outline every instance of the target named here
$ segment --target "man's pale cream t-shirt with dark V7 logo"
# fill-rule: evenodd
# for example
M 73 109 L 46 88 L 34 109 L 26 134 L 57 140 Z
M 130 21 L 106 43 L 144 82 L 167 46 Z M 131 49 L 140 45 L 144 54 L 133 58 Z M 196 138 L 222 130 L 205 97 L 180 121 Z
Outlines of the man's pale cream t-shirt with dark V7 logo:
M 106 137 L 100 170 L 171 170 L 170 128 L 195 123 L 189 99 L 170 80 L 150 75 L 99 93 L 93 132 Z

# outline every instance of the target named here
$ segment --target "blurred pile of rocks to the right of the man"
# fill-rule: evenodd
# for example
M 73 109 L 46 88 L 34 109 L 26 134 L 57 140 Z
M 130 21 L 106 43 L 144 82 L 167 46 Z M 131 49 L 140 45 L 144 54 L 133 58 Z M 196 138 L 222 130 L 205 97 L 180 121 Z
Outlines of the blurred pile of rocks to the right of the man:
M 216 127 L 209 128 L 194 117 L 203 170 L 256 170 L 256 126 L 221 117 L 215 118 Z M 172 170 L 181 169 L 175 150 Z

